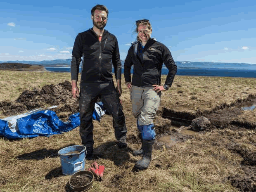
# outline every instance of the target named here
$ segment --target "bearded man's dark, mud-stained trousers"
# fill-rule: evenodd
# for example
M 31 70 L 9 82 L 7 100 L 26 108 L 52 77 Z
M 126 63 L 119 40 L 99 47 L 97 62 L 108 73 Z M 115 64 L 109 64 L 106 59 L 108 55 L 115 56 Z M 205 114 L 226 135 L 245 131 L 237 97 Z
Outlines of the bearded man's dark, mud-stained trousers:
M 115 137 L 118 141 L 126 140 L 126 123 L 123 114 L 122 106 L 119 100 L 119 94 L 116 91 L 114 82 L 106 83 L 80 83 L 80 136 L 82 145 L 87 149 L 87 154 L 92 154 L 93 151 L 93 123 L 92 114 L 95 103 L 100 97 L 107 112 L 113 117 L 113 127 Z

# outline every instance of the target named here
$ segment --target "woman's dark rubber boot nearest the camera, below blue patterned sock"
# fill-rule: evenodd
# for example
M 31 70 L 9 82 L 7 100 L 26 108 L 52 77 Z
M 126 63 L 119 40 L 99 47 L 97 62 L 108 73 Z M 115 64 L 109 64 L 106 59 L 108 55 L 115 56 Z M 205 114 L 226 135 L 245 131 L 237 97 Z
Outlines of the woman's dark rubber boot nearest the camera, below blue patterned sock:
M 142 141 L 142 159 L 135 163 L 135 168 L 138 170 L 145 170 L 149 167 L 152 158 L 152 148 L 155 140 L 143 140 Z

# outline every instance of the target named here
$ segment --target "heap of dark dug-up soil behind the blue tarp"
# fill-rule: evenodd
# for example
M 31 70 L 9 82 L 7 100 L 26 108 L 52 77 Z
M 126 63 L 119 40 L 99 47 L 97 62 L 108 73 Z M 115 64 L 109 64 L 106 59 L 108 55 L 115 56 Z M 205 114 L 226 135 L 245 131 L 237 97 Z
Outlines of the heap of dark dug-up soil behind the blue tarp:
M 71 88 L 71 83 L 64 81 L 57 85 L 45 85 L 41 90 L 25 90 L 15 101 L 0 101 L 0 110 L 4 115 L 10 116 L 57 105 L 57 108 L 51 110 L 59 114 L 61 119 L 67 118 L 79 111 L 79 102 L 73 99 Z

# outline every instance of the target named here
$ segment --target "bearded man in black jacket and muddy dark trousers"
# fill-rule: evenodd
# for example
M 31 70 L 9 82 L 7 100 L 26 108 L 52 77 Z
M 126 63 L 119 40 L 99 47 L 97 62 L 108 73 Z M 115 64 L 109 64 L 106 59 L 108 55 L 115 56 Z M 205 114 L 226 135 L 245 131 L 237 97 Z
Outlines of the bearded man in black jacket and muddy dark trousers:
M 93 154 L 92 114 L 95 102 L 100 98 L 113 117 L 113 127 L 119 148 L 127 147 L 125 116 L 119 97 L 121 88 L 121 60 L 116 37 L 104 30 L 109 11 L 104 5 L 95 5 L 91 10 L 93 27 L 78 33 L 71 60 L 72 95 L 79 98 L 80 136 L 86 147 L 86 158 Z M 77 87 L 79 65 L 83 57 L 80 91 Z M 112 64 L 116 88 L 112 76 Z

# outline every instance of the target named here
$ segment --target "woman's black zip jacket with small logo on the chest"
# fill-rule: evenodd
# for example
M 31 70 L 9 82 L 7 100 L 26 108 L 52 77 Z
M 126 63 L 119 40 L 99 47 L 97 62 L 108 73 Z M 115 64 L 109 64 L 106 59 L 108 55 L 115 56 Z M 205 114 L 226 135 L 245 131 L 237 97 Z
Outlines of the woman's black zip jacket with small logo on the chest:
M 161 71 L 163 63 L 169 72 L 165 84 L 171 87 L 177 72 L 170 50 L 162 43 L 150 38 L 142 50 L 142 61 L 137 56 L 139 42 L 132 44 L 124 63 L 124 78 L 127 82 L 137 87 L 152 87 L 161 85 Z M 133 66 L 133 80 L 131 81 L 130 69 Z

